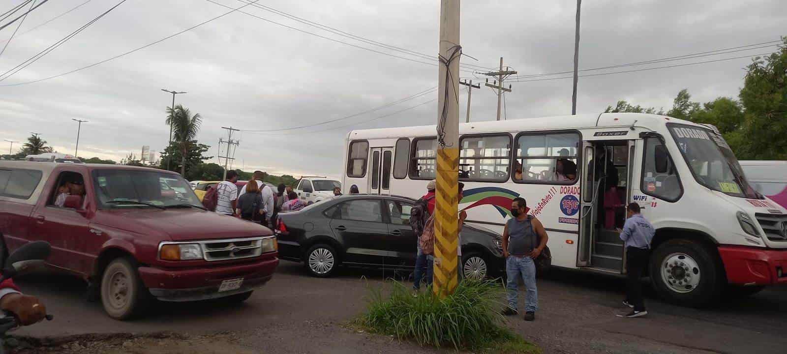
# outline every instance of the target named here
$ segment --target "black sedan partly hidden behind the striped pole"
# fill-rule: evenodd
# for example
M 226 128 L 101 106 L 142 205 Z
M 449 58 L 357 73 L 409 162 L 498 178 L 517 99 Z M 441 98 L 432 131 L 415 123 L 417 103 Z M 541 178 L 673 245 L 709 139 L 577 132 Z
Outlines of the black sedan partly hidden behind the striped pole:
M 410 228 L 408 197 L 354 194 L 334 197 L 297 212 L 279 214 L 279 256 L 304 262 L 316 277 L 339 265 L 412 269 L 417 238 Z M 501 237 L 464 225 L 462 269 L 468 278 L 497 275 L 503 268 Z

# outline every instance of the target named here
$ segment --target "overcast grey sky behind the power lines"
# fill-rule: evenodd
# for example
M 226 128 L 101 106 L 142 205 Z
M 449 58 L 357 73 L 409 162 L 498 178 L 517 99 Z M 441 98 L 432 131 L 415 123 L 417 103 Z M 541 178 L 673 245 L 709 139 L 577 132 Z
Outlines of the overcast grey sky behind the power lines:
M 35 9 L 0 56 L 0 73 L 120 2 L 86 1 L 50 0 Z M 0 11 L 20 2 L 0 0 Z M 176 104 L 201 114 L 198 139 L 212 146 L 211 156 L 216 156 L 219 138 L 226 137 L 220 127 L 232 126 L 248 130 L 235 135 L 240 139 L 235 167 L 260 168 L 273 174 L 338 176 L 342 140 L 349 130 L 434 124 L 437 120 L 436 101 L 423 104 L 437 93 L 356 115 L 437 86 L 436 66 L 393 57 L 431 62 L 412 52 L 437 53 L 437 0 L 260 0 L 257 3 L 268 9 L 245 6 L 238 10 L 245 13 L 230 13 L 101 65 L 45 79 L 135 50 L 243 3 L 127 0 L 39 61 L 13 76 L 0 76 L 0 140 L 24 141 L 35 131 L 58 151 L 73 153 L 76 122 L 71 119 L 76 118 L 89 120 L 82 126 L 82 157 L 120 160 L 129 153 L 139 156 L 143 145 L 161 151 L 168 139 L 164 109 L 172 103 L 172 95 L 161 92 L 165 88 L 188 92 L 178 95 Z M 502 56 L 505 65 L 522 76 L 571 71 L 575 4 L 574 0 L 465 0 L 461 44 L 464 53 L 478 61 L 463 57 L 461 64 L 494 67 Z M 79 8 L 36 28 L 75 6 Z M 412 52 L 339 36 L 277 10 Z M 787 35 L 785 23 L 787 6 L 781 0 L 586 1 L 582 4 L 579 67 L 599 68 L 773 41 Z M 6 45 L 15 28 L 13 24 L 0 31 L 0 47 Z M 774 49 L 584 73 L 710 61 Z M 740 58 L 580 78 L 578 112 L 600 112 L 621 99 L 669 108 L 683 88 L 689 89 L 695 101 L 734 97 L 742 85 L 743 68 L 750 61 Z M 472 77 L 472 68 L 467 70 L 461 75 Z M 512 82 L 513 92 L 506 95 L 508 118 L 570 114 L 571 79 L 552 79 L 564 76 Z M 29 83 L 39 79 L 45 80 Z M 475 90 L 472 98 L 472 120 L 495 119 L 497 97 L 492 90 Z M 461 117 L 466 99 L 463 92 Z M 389 116 L 374 120 L 385 115 Z M 314 126 L 345 116 L 353 117 Z M 301 126 L 306 127 L 251 132 Z M 0 151 L 9 149 L 9 143 L 0 143 Z

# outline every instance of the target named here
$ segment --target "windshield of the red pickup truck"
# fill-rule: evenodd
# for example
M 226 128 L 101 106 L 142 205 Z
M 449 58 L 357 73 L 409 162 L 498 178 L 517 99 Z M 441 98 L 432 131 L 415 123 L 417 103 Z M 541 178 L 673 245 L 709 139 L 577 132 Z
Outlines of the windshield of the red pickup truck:
M 93 171 L 93 185 L 99 208 L 202 207 L 189 183 L 169 173 L 101 169 Z

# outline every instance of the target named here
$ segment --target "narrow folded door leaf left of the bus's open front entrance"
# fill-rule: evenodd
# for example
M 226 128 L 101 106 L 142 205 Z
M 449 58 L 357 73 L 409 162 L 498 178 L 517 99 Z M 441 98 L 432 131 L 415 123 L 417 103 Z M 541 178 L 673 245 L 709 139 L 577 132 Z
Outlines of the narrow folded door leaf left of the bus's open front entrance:
M 593 201 L 597 193 L 595 175 L 596 155 L 592 142 L 582 142 L 582 201 L 580 201 L 579 239 L 577 267 L 588 267 L 591 263 L 591 245 L 593 245 L 593 229 L 596 223 L 596 212 L 593 212 Z

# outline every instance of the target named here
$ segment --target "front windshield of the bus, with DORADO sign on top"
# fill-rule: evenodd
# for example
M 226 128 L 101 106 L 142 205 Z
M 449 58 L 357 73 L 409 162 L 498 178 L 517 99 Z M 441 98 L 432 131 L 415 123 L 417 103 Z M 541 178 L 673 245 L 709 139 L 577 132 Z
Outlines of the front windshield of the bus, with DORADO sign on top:
M 762 199 L 746 180 L 730 146 L 710 129 L 669 124 L 670 132 L 694 179 L 711 190 L 733 197 Z

